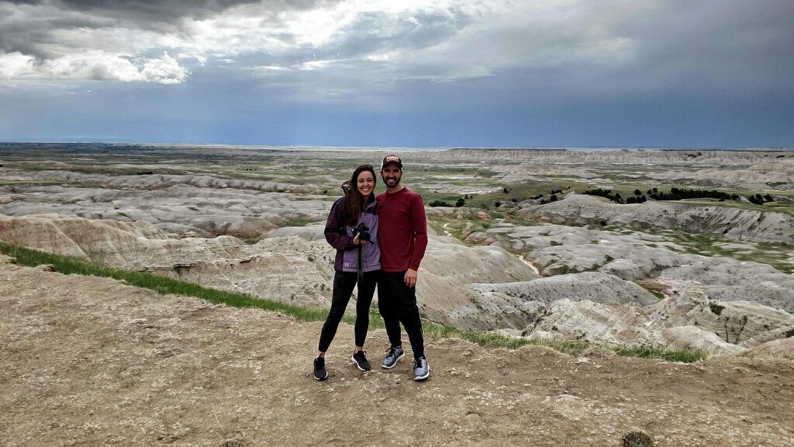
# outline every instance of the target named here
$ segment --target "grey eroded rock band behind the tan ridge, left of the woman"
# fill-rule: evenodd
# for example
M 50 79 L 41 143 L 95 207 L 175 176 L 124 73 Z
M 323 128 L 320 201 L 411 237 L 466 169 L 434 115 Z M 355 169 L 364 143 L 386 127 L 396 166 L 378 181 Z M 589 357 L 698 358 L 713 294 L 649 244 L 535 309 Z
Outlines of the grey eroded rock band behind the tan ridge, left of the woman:
M 0 214 L 146 221 L 169 233 L 258 237 L 291 221 L 324 220 L 331 205 L 326 196 L 302 195 L 298 200 L 289 192 L 249 191 L 245 185 L 234 186 L 231 180 L 222 183 L 228 183 L 228 187 L 191 183 L 169 186 L 160 179 L 147 181 L 141 177 L 147 175 L 133 176 L 136 183 L 122 185 L 131 189 L 113 189 L 119 185 L 107 179 L 103 187 L 0 186 Z M 205 180 L 214 184 L 214 179 Z

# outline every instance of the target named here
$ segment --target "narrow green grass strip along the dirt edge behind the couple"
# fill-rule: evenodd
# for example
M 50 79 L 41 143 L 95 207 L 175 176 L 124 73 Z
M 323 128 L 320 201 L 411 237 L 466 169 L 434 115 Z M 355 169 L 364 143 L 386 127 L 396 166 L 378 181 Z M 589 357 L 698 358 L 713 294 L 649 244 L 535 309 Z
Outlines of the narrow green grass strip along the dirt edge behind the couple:
M 17 260 L 17 264 L 35 267 L 40 264 L 52 264 L 56 272 L 65 275 L 85 275 L 113 278 L 124 281 L 131 286 L 141 287 L 156 291 L 160 294 L 172 294 L 191 296 L 204 299 L 215 304 L 226 306 L 256 308 L 264 310 L 274 310 L 295 318 L 299 322 L 318 322 L 326 319 L 328 310 L 311 309 L 303 306 L 292 306 L 275 302 L 269 299 L 260 299 L 252 295 L 237 292 L 221 291 L 210 287 L 202 287 L 195 283 L 187 283 L 178 279 L 157 276 L 148 272 L 133 272 L 118 268 L 106 267 L 91 260 L 83 260 L 73 256 L 61 256 L 39 250 L 28 249 L 17 245 L 6 244 L 0 241 L 0 253 L 11 256 Z M 369 320 L 371 329 L 383 329 L 384 323 L 375 309 L 370 309 L 373 318 Z M 353 325 L 355 316 L 345 314 L 343 321 Z M 583 341 L 548 341 L 539 339 L 527 339 L 517 337 L 506 337 L 497 333 L 481 332 L 476 330 L 457 329 L 445 326 L 436 322 L 423 322 L 425 337 L 428 340 L 438 340 L 446 337 L 458 337 L 463 340 L 471 341 L 476 345 L 486 348 L 507 348 L 518 349 L 526 345 L 547 346 L 556 349 L 561 353 L 570 355 L 581 355 L 592 350 L 601 348 L 611 350 L 621 356 L 634 356 L 646 358 L 661 358 L 669 361 L 695 362 L 706 357 L 700 351 L 665 351 L 660 349 L 637 348 L 637 347 L 606 347 L 592 345 Z

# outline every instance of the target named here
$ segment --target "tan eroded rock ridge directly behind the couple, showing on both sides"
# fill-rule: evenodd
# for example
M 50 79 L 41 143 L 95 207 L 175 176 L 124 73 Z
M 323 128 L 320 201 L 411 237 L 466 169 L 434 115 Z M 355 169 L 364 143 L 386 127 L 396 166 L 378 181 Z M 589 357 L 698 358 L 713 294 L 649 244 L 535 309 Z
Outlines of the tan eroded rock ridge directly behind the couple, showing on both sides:
M 116 222 L 42 215 L 0 216 L 0 240 L 117 268 L 145 270 L 189 282 L 299 305 L 326 307 L 333 284 L 334 251 L 323 225 L 278 229 L 253 245 L 235 237 L 183 237 L 146 222 Z M 526 281 L 538 275 L 500 247 L 469 247 L 431 238 L 422 306 L 428 318 L 465 329 L 514 326 L 516 302 L 478 309 L 468 283 Z

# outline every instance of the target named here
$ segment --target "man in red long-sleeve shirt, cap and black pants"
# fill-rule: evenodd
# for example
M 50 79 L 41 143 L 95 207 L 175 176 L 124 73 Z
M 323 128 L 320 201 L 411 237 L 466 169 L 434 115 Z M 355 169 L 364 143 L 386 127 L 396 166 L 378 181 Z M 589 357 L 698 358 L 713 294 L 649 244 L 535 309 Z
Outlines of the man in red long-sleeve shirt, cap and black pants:
M 430 376 L 430 365 L 425 358 L 415 286 L 419 263 L 427 247 L 427 219 L 422 196 L 401 185 L 402 176 L 403 160 L 394 155 L 384 157 L 380 177 L 386 183 L 386 191 L 376 197 L 383 270 L 378 281 L 378 309 L 384 318 L 391 348 L 380 366 L 394 368 L 405 356 L 399 326 L 403 323 L 414 352 L 414 380 L 425 380 Z

